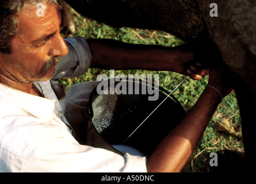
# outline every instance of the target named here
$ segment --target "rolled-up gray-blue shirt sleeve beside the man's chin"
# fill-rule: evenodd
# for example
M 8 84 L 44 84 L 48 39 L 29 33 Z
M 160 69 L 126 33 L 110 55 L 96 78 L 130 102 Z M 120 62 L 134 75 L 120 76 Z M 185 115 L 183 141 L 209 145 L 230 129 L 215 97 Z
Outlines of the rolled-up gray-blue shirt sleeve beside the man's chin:
M 65 39 L 69 52 L 62 57 L 56 66 L 53 80 L 66 77 L 75 78 L 83 75 L 91 65 L 91 51 L 86 41 L 81 36 Z

